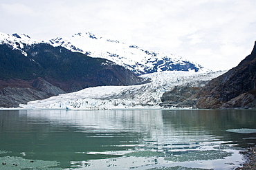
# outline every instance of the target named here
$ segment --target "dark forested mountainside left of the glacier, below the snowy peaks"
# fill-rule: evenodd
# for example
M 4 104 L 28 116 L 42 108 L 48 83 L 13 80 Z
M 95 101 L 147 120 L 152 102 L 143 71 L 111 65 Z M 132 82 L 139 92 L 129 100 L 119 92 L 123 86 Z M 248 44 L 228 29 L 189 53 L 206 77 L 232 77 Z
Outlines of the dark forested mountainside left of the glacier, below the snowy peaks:
M 0 78 L 31 80 L 42 77 L 65 92 L 98 85 L 134 85 L 143 81 L 111 61 L 91 58 L 64 47 L 39 43 L 24 47 L 24 51 L 27 56 L 8 45 L 0 45 Z

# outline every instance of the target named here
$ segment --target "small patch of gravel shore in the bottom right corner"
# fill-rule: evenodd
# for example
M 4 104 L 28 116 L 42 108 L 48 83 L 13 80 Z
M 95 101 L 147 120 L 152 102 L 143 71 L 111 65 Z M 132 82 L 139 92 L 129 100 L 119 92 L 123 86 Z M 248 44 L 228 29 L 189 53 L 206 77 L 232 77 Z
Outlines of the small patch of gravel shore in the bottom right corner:
M 247 158 L 246 162 L 242 164 L 243 167 L 238 167 L 238 169 L 250 169 L 256 170 L 256 147 L 250 147 L 247 151 L 241 151 L 242 154 Z

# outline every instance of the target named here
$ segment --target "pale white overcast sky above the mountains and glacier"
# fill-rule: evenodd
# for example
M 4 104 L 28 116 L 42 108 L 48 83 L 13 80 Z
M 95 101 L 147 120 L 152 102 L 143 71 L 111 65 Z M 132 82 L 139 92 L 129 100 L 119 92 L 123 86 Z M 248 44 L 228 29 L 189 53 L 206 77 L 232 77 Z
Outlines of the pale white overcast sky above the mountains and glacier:
M 1 0 L 0 32 L 40 41 L 91 30 L 229 70 L 253 50 L 255 0 Z

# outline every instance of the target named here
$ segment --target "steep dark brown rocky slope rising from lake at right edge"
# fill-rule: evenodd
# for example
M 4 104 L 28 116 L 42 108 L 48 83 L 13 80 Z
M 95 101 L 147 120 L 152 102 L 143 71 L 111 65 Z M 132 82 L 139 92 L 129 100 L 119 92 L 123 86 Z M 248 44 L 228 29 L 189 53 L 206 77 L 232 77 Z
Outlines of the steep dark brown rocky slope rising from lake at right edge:
M 256 42 L 250 55 L 210 81 L 199 93 L 199 108 L 256 108 Z

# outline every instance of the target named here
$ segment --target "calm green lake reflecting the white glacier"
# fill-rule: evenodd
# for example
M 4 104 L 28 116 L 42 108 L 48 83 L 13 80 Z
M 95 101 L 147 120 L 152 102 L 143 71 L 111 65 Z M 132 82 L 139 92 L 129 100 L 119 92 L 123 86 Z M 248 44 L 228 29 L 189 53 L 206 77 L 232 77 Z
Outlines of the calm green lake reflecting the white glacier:
M 250 109 L 0 110 L 0 169 L 233 169 Z

